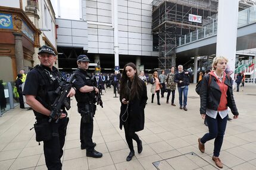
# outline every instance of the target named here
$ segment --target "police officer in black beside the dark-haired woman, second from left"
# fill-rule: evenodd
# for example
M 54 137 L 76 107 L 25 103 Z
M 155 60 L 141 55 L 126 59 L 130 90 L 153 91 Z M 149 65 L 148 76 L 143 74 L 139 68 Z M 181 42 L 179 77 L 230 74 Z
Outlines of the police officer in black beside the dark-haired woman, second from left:
M 89 62 L 90 60 L 86 55 L 78 56 L 78 69 L 74 72 L 76 81 L 73 85 L 77 89 L 75 97 L 78 112 L 81 114 L 80 142 L 81 149 L 86 149 L 86 156 L 101 158 L 102 153 L 94 149 L 96 143 L 92 142 L 93 116 L 96 110 L 94 100 L 95 93 L 98 93 L 99 89 L 93 86 L 93 83 L 95 85 L 95 79 L 92 80 L 91 76 L 86 72 Z

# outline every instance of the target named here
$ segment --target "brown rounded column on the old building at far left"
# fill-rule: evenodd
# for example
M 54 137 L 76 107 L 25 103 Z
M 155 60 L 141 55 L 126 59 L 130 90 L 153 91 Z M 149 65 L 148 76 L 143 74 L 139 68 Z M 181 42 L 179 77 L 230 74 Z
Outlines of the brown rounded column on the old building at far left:
M 16 59 L 16 69 L 17 72 L 24 69 L 24 56 L 23 56 L 23 44 L 22 44 L 22 34 L 13 33 L 15 36 L 15 59 Z

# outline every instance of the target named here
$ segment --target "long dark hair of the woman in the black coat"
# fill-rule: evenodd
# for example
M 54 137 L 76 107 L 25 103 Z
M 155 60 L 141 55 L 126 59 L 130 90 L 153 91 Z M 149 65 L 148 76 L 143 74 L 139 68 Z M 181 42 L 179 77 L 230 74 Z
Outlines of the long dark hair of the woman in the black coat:
M 126 67 L 130 66 L 133 69 L 136 70 L 134 78 L 133 78 L 133 82 L 132 82 L 132 86 L 129 89 L 128 87 L 128 82 L 130 81 L 128 76 L 126 75 Z M 143 82 L 142 80 L 139 78 L 138 76 L 138 71 L 136 69 L 136 66 L 134 63 L 127 63 L 124 66 L 123 72 L 122 72 L 122 76 L 121 76 L 121 81 L 120 81 L 120 97 L 121 99 L 129 98 L 129 101 L 133 100 L 134 98 L 140 98 L 140 93 L 143 90 Z

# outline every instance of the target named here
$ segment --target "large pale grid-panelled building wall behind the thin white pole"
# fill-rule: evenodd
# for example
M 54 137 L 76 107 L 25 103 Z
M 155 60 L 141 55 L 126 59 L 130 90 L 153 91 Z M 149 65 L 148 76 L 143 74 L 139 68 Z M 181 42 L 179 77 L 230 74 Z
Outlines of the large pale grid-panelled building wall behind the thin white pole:
M 58 16 L 57 46 L 60 60 L 76 67 L 76 57 L 88 54 L 102 69 L 114 69 L 114 1 L 81 0 L 80 21 Z M 152 6 L 149 0 L 117 1 L 119 66 L 134 62 L 145 69 L 157 68 L 158 52 L 153 51 Z M 61 6 L 60 4 L 58 4 Z M 60 63 L 60 67 L 65 68 Z

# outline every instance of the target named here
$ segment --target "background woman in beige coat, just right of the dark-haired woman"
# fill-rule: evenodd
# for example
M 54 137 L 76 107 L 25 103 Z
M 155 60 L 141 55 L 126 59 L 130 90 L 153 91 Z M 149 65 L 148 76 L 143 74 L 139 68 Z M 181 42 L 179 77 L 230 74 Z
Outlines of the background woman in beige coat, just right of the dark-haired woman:
M 152 84 L 151 89 L 150 89 L 150 91 L 152 93 L 151 103 L 153 103 L 155 93 L 157 93 L 157 104 L 161 105 L 160 104 L 160 95 L 159 95 L 159 93 L 160 93 L 160 81 L 158 79 L 158 73 L 157 72 L 153 73 L 153 76 L 151 78 L 151 84 Z

